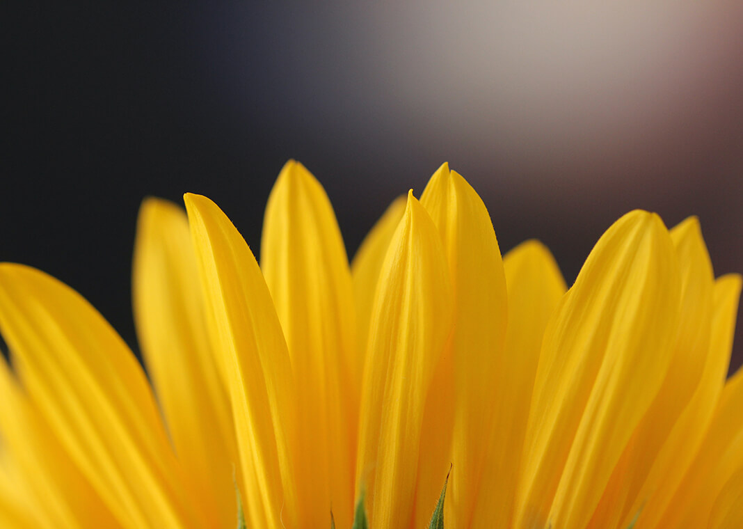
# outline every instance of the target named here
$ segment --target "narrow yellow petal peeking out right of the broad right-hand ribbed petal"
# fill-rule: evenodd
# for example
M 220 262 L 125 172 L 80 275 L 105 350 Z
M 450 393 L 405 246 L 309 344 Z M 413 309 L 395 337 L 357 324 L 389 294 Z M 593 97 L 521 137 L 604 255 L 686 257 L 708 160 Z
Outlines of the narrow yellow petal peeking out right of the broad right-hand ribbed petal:
M 704 382 L 704 373 L 716 386 L 721 386 L 721 355 L 708 354 L 714 278 L 698 220 L 687 218 L 671 230 L 671 238 L 681 271 L 681 313 L 672 362 L 658 395 L 635 429 L 622 460 L 614 468 L 591 520 L 592 527 L 626 528 L 654 490 L 669 486 L 668 467 L 675 467 L 672 472 L 676 472 L 684 457 L 678 453 L 672 458 L 663 455 L 666 464 L 663 468 L 657 466 L 651 473 L 654 464 L 660 461 L 658 456 L 663 444 L 684 408 L 690 405 L 692 395 Z M 698 395 L 702 394 L 704 391 Z M 707 406 L 710 414 L 714 401 L 710 400 Z M 704 424 L 695 425 L 695 429 L 704 431 Z M 688 448 L 695 435 L 693 432 L 684 434 L 684 447 Z

